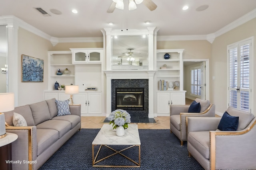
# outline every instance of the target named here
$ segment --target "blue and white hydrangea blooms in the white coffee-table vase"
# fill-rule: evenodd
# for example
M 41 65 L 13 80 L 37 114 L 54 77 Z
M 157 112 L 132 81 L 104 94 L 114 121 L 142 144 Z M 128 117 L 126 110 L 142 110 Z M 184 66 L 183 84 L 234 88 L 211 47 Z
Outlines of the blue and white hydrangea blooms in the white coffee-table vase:
M 131 123 L 131 116 L 125 110 L 116 109 L 110 113 L 108 120 L 110 120 L 109 124 L 113 123 L 113 129 L 116 129 L 118 126 L 123 126 L 124 129 L 127 129 L 128 124 Z

